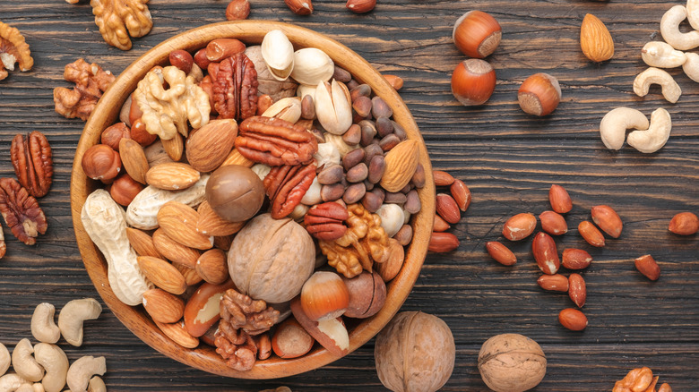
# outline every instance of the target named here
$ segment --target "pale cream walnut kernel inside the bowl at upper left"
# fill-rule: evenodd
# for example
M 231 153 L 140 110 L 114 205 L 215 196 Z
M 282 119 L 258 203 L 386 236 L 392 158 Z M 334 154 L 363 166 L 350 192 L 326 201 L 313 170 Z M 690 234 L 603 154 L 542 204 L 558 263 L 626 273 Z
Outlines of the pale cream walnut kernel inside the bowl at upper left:
M 168 84 L 168 89 L 163 87 Z M 209 96 L 196 85 L 192 76 L 175 66 L 155 67 L 134 91 L 136 104 L 143 112 L 141 120 L 146 131 L 157 134 L 163 141 L 177 135 L 187 136 L 187 121 L 194 129 L 209 123 Z

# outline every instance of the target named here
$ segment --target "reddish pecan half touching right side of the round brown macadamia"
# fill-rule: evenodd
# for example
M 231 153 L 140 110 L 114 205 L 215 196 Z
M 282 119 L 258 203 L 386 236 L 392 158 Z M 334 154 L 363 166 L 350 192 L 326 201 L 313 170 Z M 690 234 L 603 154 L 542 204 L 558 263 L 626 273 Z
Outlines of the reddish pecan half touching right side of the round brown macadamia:
M 267 197 L 272 201 L 272 217 L 280 219 L 288 216 L 301 202 L 314 178 L 315 162 L 305 166 L 272 167 L 263 181 Z

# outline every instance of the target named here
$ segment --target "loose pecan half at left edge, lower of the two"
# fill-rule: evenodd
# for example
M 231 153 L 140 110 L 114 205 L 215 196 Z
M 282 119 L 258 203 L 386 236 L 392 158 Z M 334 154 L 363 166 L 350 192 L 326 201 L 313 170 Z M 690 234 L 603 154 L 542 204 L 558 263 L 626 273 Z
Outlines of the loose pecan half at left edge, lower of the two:
M 39 203 L 13 178 L 0 178 L 0 213 L 22 243 L 33 245 L 46 233 L 47 221 Z

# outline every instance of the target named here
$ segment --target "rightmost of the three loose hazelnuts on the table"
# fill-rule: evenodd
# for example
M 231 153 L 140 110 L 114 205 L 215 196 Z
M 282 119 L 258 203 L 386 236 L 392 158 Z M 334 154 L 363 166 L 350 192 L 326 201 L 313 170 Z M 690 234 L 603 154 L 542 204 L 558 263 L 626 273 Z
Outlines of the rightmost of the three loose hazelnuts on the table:
M 535 73 L 522 83 L 517 99 L 525 113 L 548 115 L 561 101 L 561 86 L 548 73 Z

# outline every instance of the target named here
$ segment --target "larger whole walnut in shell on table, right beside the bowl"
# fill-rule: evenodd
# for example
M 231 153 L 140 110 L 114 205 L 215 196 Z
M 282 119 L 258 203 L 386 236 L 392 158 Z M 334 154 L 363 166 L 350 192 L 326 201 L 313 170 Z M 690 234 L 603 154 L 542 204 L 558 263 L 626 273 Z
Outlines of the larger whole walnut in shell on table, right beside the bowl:
M 435 392 L 452 376 L 455 358 L 451 329 L 421 311 L 397 314 L 376 336 L 376 371 L 393 391 Z

